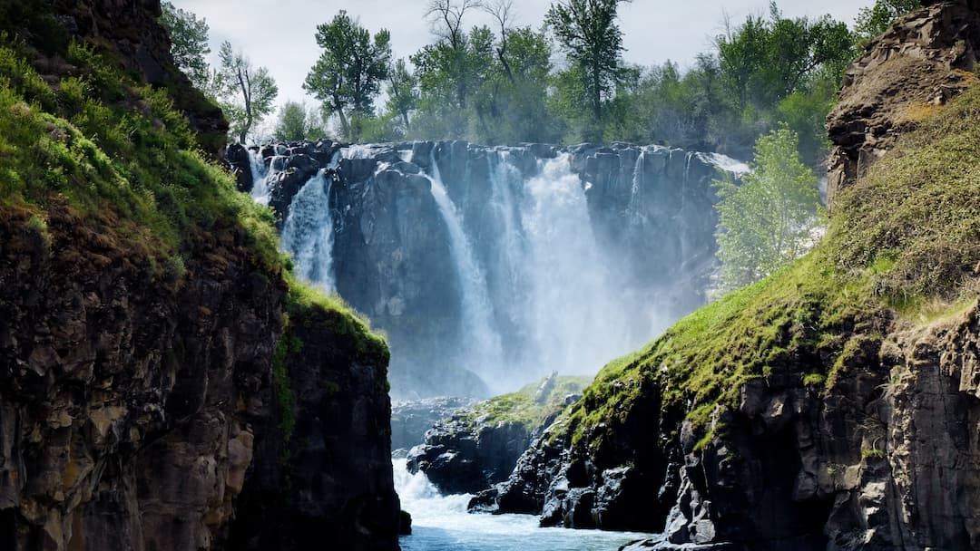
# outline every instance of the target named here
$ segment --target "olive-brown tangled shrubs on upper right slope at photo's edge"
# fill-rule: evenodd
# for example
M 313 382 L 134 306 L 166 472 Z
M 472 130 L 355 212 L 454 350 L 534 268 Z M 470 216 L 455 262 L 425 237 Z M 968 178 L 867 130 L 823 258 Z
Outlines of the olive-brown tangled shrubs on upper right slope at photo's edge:
M 912 309 L 955 301 L 980 263 L 980 90 L 924 120 L 835 203 L 840 269 L 873 266 L 877 293 Z

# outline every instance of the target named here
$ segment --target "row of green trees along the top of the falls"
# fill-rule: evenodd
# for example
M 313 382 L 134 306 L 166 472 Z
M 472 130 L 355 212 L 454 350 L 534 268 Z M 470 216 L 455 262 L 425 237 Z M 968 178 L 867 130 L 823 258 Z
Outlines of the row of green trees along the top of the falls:
M 810 165 L 826 154 L 823 122 L 844 69 L 863 43 L 918 0 L 878 0 L 853 27 L 830 16 L 725 22 L 693 67 L 644 68 L 622 59 L 620 2 L 558 0 L 544 22 L 515 22 L 512 0 L 432 0 L 433 41 L 394 59 L 390 34 L 340 11 L 317 29 L 320 56 L 304 88 L 320 105 L 287 102 L 280 139 L 466 139 L 483 144 L 628 141 L 711 150 L 746 159 L 761 135 L 786 127 Z M 491 25 L 472 25 L 479 12 Z M 484 18 L 486 19 L 486 18 Z M 201 67 L 207 25 L 165 4 L 178 63 L 221 103 L 245 141 L 270 115 L 268 71 L 221 46 L 221 67 Z M 192 40 L 181 39 L 192 31 Z M 202 34 L 203 32 L 203 34 Z M 196 49 L 196 51 L 195 51 Z M 183 61 L 182 61 L 183 60 Z M 383 103 L 380 101 L 383 98 Z

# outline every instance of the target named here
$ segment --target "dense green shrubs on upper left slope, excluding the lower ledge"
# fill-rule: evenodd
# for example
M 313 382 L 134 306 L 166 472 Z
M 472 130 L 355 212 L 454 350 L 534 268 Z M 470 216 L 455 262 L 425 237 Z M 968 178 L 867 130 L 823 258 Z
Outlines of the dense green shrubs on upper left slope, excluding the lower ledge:
M 78 73 L 45 92 L 23 54 L 0 46 L 0 207 L 65 204 L 102 224 L 107 244 L 165 267 L 207 233 L 239 228 L 256 263 L 281 269 L 268 209 L 195 151 L 165 91 L 83 46 L 62 55 Z

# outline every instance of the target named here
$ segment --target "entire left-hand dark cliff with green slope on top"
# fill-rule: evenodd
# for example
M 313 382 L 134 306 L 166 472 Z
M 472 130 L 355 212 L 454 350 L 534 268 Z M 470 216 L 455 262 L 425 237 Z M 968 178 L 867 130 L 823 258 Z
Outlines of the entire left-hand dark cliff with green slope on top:
M 387 346 L 206 159 L 159 15 L 0 5 L 0 548 L 397 549 Z

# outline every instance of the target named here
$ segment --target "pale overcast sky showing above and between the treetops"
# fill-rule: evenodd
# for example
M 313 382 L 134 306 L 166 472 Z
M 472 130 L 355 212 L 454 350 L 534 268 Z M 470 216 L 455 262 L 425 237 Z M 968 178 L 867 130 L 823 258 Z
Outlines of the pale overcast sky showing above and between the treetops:
M 302 83 L 319 57 L 314 39 L 319 23 L 329 22 L 345 9 L 371 33 L 391 31 L 396 57 L 415 53 L 432 40 L 431 27 L 422 14 L 428 0 L 172 0 L 177 8 L 204 18 L 211 26 L 211 49 L 223 40 L 242 50 L 257 66 L 266 66 L 279 86 L 277 104 L 286 100 L 313 100 Z M 851 24 L 858 10 L 873 0 L 780 0 L 787 17 L 831 14 Z M 551 0 L 515 0 L 518 25 L 538 27 Z M 671 60 L 689 66 L 711 46 L 711 37 L 723 28 L 727 14 L 741 23 L 749 14 L 768 12 L 767 0 L 633 0 L 620 4 L 619 20 L 626 47 L 625 60 L 650 66 Z M 482 14 L 464 20 L 466 27 L 489 23 Z M 215 54 L 213 53 L 212 56 Z M 216 60 L 212 59 L 214 65 Z

